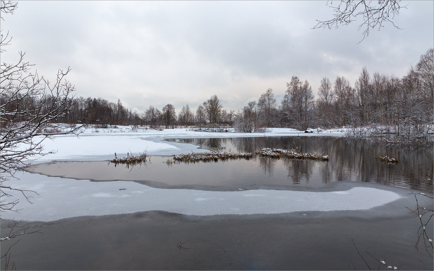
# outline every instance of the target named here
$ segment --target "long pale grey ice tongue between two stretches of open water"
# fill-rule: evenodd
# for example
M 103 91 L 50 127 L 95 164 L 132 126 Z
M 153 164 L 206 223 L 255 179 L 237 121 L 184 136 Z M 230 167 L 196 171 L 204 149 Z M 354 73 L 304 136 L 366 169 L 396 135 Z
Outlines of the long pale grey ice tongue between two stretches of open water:
M 2 219 L 54 221 L 83 215 L 111 215 L 161 210 L 185 215 L 274 214 L 308 211 L 368 210 L 394 202 L 398 193 L 378 184 L 351 184 L 342 191 L 160 189 L 129 181 L 91 182 L 24 172 L 17 189 L 39 194 L 30 204 L 22 195 L 19 212 Z M 339 184 L 337 184 L 339 185 Z M 362 187 L 360 187 L 362 186 Z M 350 189 L 348 189 L 350 188 Z M 120 190 L 122 189 L 122 190 Z M 341 188 L 342 189 L 342 188 Z M 400 191 L 399 188 L 391 188 Z M 403 190 L 403 189 L 402 189 Z M 408 190 L 406 190 L 408 193 Z M 29 195 L 33 196 L 33 195 Z M 405 212 L 405 208 L 402 208 Z

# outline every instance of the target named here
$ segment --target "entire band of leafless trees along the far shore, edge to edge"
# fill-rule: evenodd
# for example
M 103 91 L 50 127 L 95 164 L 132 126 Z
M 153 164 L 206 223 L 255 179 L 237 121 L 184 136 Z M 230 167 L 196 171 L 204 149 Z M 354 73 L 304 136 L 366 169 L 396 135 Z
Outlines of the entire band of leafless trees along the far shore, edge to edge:
M 416 66 L 399 78 L 378 72 L 370 74 L 362 68 L 354 85 L 343 76 L 334 81 L 322 78 L 315 98 L 307 80 L 293 75 L 286 83 L 285 95 L 280 101 L 274 98 L 273 89 L 267 89 L 257 101 L 249 101 L 237 112 L 226 110 L 217 95 L 211 96 L 197 108 L 185 105 L 178 114 L 172 104 L 158 109 L 150 105 L 145 111 L 132 111 L 103 98 L 70 98 L 67 114 L 56 121 L 76 123 L 92 121 L 101 125 L 175 125 L 234 126 L 240 132 L 263 131 L 266 127 L 290 127 L 300 131 L 308 127 L 323 129 L 366 125 L 388 125 L 405 130 L 419 129 L 433 123 L 433 49 L 422 55 Z M 20 104 L 8 104 L 19 110 L 39 107 L 41 114 L 53 104 L 50 95 L 28 98 Z M 3 101 L 7 97 L 2 95 Z M 55 103 L 55 102 L 54 102 Z M 44 109 L 46 107 L 46 109 Z M 13 111 L 14 108 L 8 108 Z M 59 108 L 59 110 L 64 110 Z M 24 121 L 24 120 L 15 120 Z M 403 131 L 404 132 L 404 131 Z

